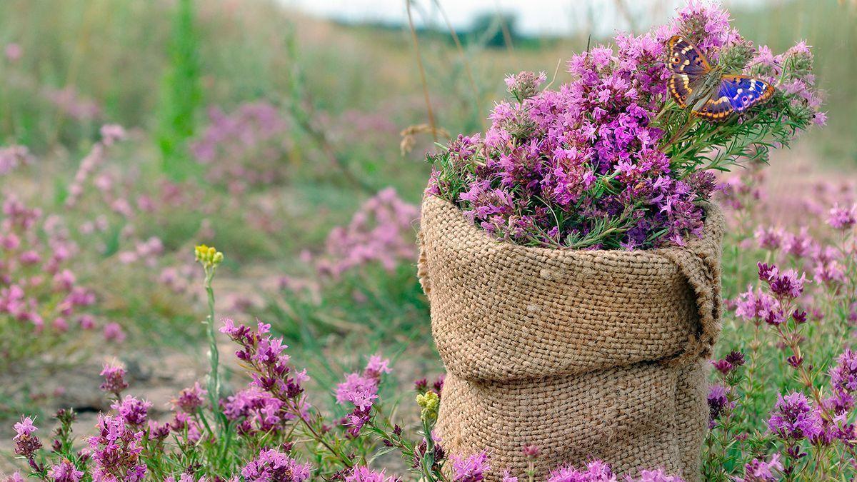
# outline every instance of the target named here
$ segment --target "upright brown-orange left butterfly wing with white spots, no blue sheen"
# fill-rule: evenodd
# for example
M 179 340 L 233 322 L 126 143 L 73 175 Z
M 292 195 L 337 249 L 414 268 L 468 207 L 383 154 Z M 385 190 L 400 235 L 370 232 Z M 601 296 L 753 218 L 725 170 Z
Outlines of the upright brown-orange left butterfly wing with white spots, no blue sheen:
M 680 35 L 669 39 L 667 47 L 667 67 L 673 72 L 667 81 L 667 87 L 676 104 L 684 109 L 688 105 L 688 99 L 692 99 L 693 93 L 703 84 L 711 65 L 702 51 Z

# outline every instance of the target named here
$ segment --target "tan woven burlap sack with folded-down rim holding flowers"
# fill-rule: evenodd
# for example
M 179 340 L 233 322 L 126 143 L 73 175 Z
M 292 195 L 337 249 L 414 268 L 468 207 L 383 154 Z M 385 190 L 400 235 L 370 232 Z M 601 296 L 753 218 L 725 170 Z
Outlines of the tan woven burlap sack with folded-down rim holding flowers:
M 705 358 L 720 332 L 723 216 L 662 250 L 551 250 L 490 238 L 423 200 L 419 276 L 446 365 L 437 431 L 452 455 L 488 449 L 488 480 L 592 458 L 620 474 L 699 479 Z

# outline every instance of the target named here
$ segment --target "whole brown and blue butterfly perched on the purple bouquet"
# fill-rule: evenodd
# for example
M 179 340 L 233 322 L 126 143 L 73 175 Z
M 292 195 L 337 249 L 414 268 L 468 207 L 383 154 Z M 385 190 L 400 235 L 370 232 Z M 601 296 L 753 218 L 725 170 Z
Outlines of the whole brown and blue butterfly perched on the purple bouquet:
M 669 39 L 667 46 L 669 94 L 699 117 L 726 120 L 774 95 L 773 86 L 751 75 L 722 75 L 720 67 L 712 68 L 704 53 L 680 35 Z

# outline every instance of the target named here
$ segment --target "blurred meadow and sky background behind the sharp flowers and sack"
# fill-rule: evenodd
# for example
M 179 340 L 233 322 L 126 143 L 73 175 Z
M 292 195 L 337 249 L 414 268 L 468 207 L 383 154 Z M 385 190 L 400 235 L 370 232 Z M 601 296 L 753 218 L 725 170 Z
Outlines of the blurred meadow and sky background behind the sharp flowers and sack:
M 93 303 L 66 314 L 45 292 L 26 336 L 0 318 L 0 418 L 105 409 L 107 357 L 165 410 L 205 372 L 198 243 L 226 256 L 219 314 L 272 323 L 318 387 L 373 352 L 402 383 L 437 375 L 415 267 L 425 154 L 483 130 L 504 75 L 556 87 L 573 52 L 681 4 L 3 0 L 0 195 L 39 210 L 32 242 L 67 250 Z M 771 158 L 772 185 L 853 181 L 857 3 L 726 5 L 757 45 L 807 39 L 827 94 L 828 125 Z

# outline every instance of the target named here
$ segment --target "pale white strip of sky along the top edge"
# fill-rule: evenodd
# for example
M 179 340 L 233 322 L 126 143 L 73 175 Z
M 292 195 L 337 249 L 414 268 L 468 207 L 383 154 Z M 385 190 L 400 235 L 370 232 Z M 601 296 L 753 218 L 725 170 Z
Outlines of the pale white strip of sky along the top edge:
M 310 15 L 350 22 L 381 21 L 401 24 L 407 21 L 405 0 L 279 0 Z M 569 35 L 578 30 L 596 35 L 616 29 L 640 30 L 666 20 L 684 0 L 438 0 L 452 25 L 469 27 L 476 15 L 511 13 L 518 19 L 518 30 L 529 35 Z M 732 0 L 729 5 L 753 5 L 764 0 Z M 434 0 L 414 0 L 414 21 L 426 18 L 441 21 Z M 625 5 L 626 14 L 618 5 Z M 630 25 L 632 19 L 635 25 Z

